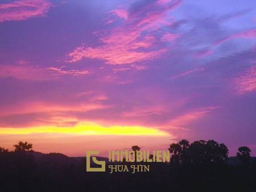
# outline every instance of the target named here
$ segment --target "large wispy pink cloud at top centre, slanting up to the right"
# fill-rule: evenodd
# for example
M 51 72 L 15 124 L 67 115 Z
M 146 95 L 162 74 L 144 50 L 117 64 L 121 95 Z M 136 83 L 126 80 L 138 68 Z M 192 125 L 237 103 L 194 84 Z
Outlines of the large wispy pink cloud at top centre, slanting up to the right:
M 126 10 L 114 10 L 114 14 L 125 18 L 122 26 L 114 27 L 108 35 L 100 37 L 103 43 L 98 47 L 75 48 L 68 53 L 69 62 L 82 60 L 84 57 L 90 59 L 101 59 L 106 64 L 131 64 L 134 62 L 155 59 L 166 52 L 167 48 L 154 46 L 156 37 L 150 33 L 158 32 L 160 27 L 168 26 L 172 23 L 168 12 L 180 5 L 181 1 L 171 1 L 167 5 L 153 3 L 147 5 L 147 11 L 139 10 L 131 16 L 127 16 Z M 159 6 L 159 9 L 155 9 Z M 169 41 L 175 40 L 175 35 L 164 37 Z

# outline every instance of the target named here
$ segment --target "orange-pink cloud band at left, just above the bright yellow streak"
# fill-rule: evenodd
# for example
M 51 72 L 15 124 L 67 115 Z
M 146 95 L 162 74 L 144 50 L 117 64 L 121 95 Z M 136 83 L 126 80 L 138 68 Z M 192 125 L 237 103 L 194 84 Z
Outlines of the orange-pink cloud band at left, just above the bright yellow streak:
M 34 127 L 34 126 L 68 126 L 72 127 L 79 122 L 76 113 L 101 110 L 109 106 L 102 105 L 101 101 L 83 103 L 62 103 L 57 105 L 53 102 L 27 102 L 15 103 L 9 107 L 3 107 L 0 111 L 0 127 Z M 24 119 L 24 116 L 30 117 Z M 13 120 L 6 121 L 11 118 Z

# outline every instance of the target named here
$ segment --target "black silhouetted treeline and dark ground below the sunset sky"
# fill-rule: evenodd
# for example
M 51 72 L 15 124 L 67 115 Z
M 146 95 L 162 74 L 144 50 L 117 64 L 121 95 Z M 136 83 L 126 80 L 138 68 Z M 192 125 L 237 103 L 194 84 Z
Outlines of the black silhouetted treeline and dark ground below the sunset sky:
M 150 164 L 150 172 L 86 172 L 86 157 L 32 151 L 19 141 L 14 151 L 0 147 L 0 191 L 175 191 L 255 192 L 256 161 L 248 147 L 228 158 L 228 148 L 214 140 L 172 143 L 170 163 Z M 141 148 L 132 147 L 134 151 Z M 99 157 L 98 157 L 99 158 Z M 152 158 L 152 155 L 150 156 Z M 101 160 L 106 158 L 101 157 Z M 137 162 L 120 162 L 131 165 Z

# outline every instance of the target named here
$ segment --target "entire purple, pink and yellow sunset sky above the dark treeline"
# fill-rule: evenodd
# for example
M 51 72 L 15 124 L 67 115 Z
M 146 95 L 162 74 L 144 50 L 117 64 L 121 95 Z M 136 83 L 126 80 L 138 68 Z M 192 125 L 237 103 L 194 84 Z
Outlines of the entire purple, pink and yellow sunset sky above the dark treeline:
M 256 1 L 0 2 L 0 146 L 85 156 L 214 139 L 256 155 Z

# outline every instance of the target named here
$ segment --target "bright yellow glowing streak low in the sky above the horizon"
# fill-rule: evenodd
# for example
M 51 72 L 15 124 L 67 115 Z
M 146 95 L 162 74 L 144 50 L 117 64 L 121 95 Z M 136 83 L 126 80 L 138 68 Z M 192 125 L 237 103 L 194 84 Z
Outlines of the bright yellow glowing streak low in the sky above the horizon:
M 79 123 L 74 127 L 40 126 L 25 128 L 0 128 L 0 135 L 28 135 L 32 133 L 61 133 L 69 135 L 147 135 L 169 136 L 167 132 L 156 128 L 141 126 L 110 126 L 104 127 L 96 123 Z

